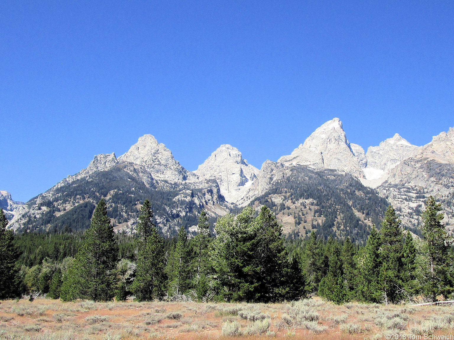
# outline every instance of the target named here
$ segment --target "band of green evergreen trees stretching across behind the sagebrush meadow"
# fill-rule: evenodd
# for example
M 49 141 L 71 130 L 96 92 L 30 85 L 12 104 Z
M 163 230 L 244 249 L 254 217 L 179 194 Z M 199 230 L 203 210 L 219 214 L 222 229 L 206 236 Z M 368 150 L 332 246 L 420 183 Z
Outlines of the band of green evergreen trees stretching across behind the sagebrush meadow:
M 119 241 L 100 200 L 89 229 L 74 236 L 77 251 L 75 243 L 68 245 L 67 236 L 57 234 L 54 240 L 59 241 L 47 242 L 53 244 L 48 247 L 51 251 L 38 246 L 35 253 L 41 249 L 40 255 L 35 257 L 33 247 L 24 247 L 32 236 L 18 237 L 6 230 L 8 221 L 0 211 L 0 299 L 26 291 L 41 291 L 63 301 L 133 297 L 137 301 L 273 302 L 318 295 L 337 304 L 387 304 L 414 301 L 416 296 L 424 301 L 450 298 L 454 256 L 440 211 L 441 204 L 429 197 L 420 239 L 403 231 L 390 206 L 379 230 L 372 227 L 365 246 L 349 237 L 324 239 L 315 232 L 306 240 L 284 240 L 266 206 L 259 212 L 248 206 L 236 216 L 219 217 L 216 237 L 202 211 L 197 236 L 189 239 L 181 227 L 178 237 L 164 240 L 153 223 L 151 203 L 145 200 L 137 237 Z M 21 237 L 22 243 L 14 242 Z M 41 260 L 44 253 L 49 256 Z

